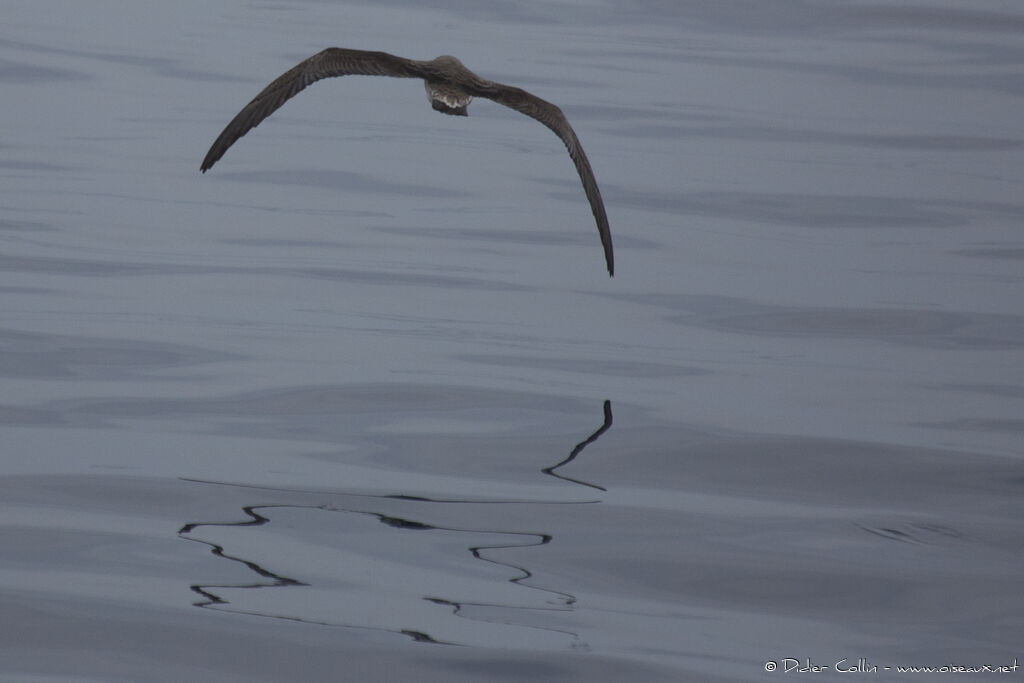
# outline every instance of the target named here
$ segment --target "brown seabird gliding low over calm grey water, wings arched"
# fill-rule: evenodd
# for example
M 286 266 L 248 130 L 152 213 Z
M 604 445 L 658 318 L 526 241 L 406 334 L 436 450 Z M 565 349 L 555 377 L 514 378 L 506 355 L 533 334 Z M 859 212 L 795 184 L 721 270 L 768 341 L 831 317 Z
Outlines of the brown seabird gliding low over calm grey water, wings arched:
M 597 187 L 594 171 L 590 168 L 583 145 L 565 115 L 551 102 L 521 88 L 480 78 L 453 56 L 442 55 L 428 61 L 417 61 L 387 52 L 329 47 L 282 74 L 246 104 L 214 140 L 200 170 L 206 173 L 236 140 L 258 126 L 306 86 L 321 79 L 350 75 L 421 78 L 431 106 L 441 114 L 468 116 L 466 106 L 470 100 L 473 97 L 484 97 L 525 114 L 554 131 L 565 143 L 577 172 L 580 173 L 584 193 L 597 221 L 597 231 L 601 236 L 608 274 L 614 274 L 611 231 L 604 203 L 601 201 L 601 190 Z

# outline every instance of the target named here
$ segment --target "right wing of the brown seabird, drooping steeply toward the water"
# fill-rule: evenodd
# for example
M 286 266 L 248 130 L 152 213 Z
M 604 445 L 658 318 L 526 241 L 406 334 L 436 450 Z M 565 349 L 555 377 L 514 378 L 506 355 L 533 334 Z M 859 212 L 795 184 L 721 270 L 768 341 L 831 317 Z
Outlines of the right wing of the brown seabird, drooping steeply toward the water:
M 499 104 L 504 104 L 510 109 L 525 114 L 537 119 L 545 126 L 554 131 L 555 135 L 565 143 L 565 148 L 569 151 L 569 157 L 575 164 L 577 172 L 583 181 L 583 190 L 590 201 L 590 209 L 594 212 L 594 219 L 597 221 L 597 231 L 601 234 L 601 245 L 604 247 L 604 260 L 608 265 L 608 274 L 615 274 L 615 259 L 611 250 L 611 229 L 608 227 L 608 216 L 604 212 L 604 202 L 601 201 L 601 190 L 597 187 L 597 179 L 594 171 L 590 168 L 590 161 L 580 144 L 580 138 L 575 136 L 575 131 L 569 125 L 568 119 L 562 111 L 551 102 L 541 99 L 537 95 L 530 94 L 521 88 L 515 88 L 501 83 L 487 82 L 474 87 L 475 84 L 465 84 L 470 94 L 493 99 Z

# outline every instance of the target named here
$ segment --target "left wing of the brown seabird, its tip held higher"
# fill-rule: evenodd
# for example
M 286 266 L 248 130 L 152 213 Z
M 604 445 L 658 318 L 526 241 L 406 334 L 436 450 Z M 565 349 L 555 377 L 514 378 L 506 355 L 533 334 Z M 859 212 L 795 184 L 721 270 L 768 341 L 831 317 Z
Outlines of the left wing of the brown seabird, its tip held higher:
M 285 72 L 231 119 L 214 141 L 200 167 L 204 173 L 224 156 L 234 141 L 273 114 L 312 83 L 334 76 L 395 76 L 423 78 L 420 65 L 387 52 L 329 47 Z

